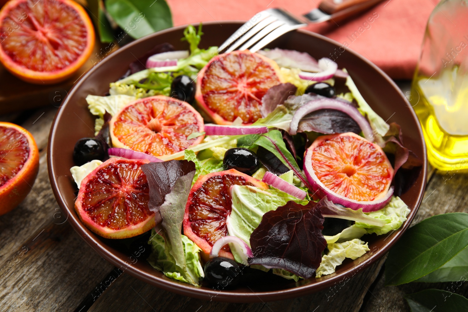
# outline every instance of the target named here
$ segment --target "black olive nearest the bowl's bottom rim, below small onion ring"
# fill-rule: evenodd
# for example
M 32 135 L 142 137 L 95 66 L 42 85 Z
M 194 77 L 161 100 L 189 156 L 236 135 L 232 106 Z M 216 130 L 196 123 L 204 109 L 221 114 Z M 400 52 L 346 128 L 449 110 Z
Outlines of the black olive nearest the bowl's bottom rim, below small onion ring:
M 241 281 L 242 266 L 228 258 L 212 258 L 205 264 L 205 279 L 212 286 L 231 288 Z

